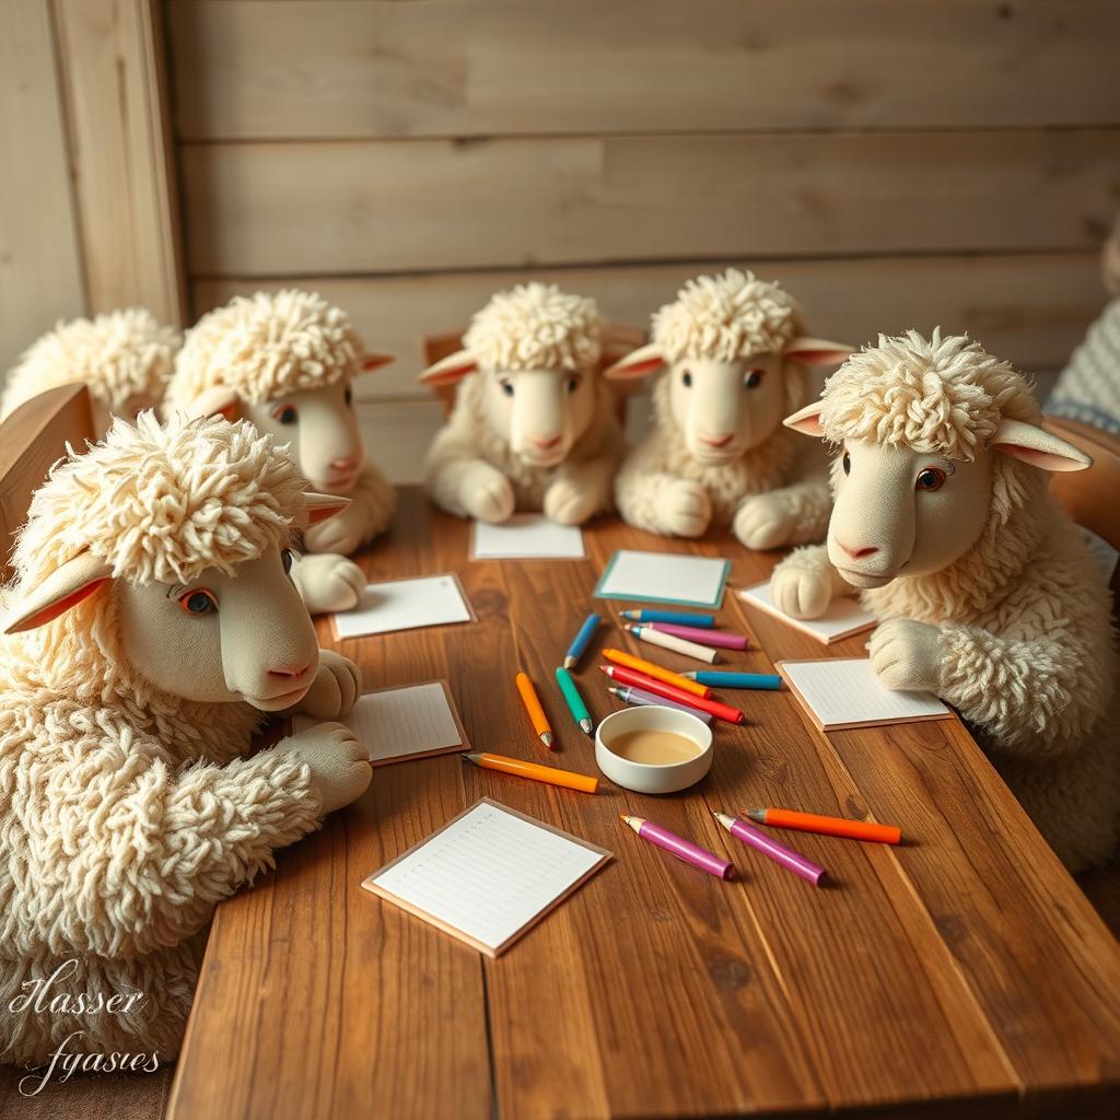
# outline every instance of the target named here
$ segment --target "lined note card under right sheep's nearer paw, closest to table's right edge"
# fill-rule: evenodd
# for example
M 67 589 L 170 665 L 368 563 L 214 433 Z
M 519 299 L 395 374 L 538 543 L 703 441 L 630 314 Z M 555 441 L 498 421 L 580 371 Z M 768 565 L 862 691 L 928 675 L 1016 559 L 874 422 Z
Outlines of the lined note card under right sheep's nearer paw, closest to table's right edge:
M 913 724 L 953 715 L 928 692 L 888 689 L 866 657 L 780 661 L 776 668 L 822 731 Z

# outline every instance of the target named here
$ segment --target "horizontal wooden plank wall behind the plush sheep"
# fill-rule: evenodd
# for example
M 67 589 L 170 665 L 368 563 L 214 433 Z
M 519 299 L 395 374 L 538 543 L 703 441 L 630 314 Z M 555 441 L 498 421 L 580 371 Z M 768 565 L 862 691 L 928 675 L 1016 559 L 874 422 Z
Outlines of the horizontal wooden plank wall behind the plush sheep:
M 323 290 L 400 356 L 361 396 L 410 439 L 423 334 L 526 277 L 644 323 L 747 263 L 822 334 L 940 324 L 1044 379 L 1104 299 L 1110 0 L 168 0 L 167 25 L 194 314 Z

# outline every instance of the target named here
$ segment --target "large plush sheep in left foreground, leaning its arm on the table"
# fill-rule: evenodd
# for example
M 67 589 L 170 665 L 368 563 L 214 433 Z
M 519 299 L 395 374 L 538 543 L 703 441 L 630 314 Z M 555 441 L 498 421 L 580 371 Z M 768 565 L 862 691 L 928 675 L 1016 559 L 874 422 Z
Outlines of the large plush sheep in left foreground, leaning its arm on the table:
M 365 790 L 340 724 L 248 757 L 263 712 L 354 702 L 288 578 L 340 504 L 248 423 L 151 413 L 35 494 L 0 624 L 0 1062 L 172 1057 L 215 903 Z

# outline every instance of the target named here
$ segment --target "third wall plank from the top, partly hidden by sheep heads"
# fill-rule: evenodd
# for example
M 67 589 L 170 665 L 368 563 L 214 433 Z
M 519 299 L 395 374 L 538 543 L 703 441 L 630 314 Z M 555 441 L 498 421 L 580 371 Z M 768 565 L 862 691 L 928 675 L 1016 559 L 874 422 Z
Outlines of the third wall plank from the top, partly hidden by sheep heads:
M 615 321 L 645 324 L 687 279 L 725 263 L 754 267 L 781 281 L 805 308 L 812 329 L 825 337 L 865 343 L 879 332 L 928 332 L 940 325 L 979 338 L 991 353 L 1030 373 L 1061 368 L 1105 299 L 1098 254 L 1074 252 L 760 263 L 727 258 L 414 277 L 233 278 L 196 281 L 193 310 L 198 316 L 259 289 L 295 284 L 319 291 L 346 309 L 371 347 L 396 355 L 393 365 L 358 380 L 358 398 L 423 399 L 416 376 L 426 365 L 424 336 L 461 328 L 495 291 L 526 280 L 554 281 L 594 297 Z

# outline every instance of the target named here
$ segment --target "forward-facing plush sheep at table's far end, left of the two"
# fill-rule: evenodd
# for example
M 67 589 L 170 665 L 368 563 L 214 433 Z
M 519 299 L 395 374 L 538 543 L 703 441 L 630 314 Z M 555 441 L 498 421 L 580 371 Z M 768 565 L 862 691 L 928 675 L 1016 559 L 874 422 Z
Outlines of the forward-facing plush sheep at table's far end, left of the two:
M 601 338 L 595 302 L 553 284 L 498 292 L 474 316 L 464 348 L 420 375 L 459 382 L 426 465 L 437 505 L 491 522 L 543 510 L 567 525 L 610 507 L 624 442 Z

